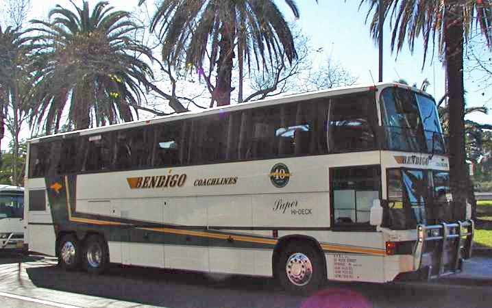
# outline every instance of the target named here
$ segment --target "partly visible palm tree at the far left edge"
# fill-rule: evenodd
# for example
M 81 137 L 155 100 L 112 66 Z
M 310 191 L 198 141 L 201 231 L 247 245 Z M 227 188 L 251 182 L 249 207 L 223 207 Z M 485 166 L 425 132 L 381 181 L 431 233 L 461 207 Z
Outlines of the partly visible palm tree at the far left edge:
M 12 135 L 12 184 L 19 185 L 19 133 L 32 103 L 34 79 L 29 64 L 31 47 L 19 28 L 0 27 L 0 142 L 5 127 Z M 0 159 L 1 162 L 1 159 Z M 0 163 L 1 164 L 1 163 Z

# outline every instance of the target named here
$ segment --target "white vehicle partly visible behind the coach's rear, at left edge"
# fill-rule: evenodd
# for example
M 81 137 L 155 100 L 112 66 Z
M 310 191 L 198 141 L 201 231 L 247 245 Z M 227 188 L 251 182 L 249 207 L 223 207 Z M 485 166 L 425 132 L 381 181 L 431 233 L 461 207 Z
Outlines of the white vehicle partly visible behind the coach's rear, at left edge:
M 24 249 L 24 188 L 0 185 L 0 251 Z

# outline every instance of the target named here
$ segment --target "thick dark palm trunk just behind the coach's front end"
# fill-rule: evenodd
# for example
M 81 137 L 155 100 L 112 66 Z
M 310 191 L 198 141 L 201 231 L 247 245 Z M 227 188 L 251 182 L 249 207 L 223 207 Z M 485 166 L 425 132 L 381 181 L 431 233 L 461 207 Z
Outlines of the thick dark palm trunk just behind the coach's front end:
M 465 101 L 463 86 L 463 8 L 447 2 L 445 61 L 450 108 L 450 179 L 454 219 L 465 218 L 468 175 L 465 164 Z

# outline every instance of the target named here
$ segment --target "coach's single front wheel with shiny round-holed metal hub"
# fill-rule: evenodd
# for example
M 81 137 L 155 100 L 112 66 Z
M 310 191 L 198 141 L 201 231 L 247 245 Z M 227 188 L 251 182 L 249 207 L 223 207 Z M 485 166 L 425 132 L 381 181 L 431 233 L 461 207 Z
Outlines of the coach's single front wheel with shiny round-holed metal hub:
M 323 259 L 308 244 L 292 242 L 280 253 L 277 277 L 284 290 L 309 294 L 325 281 Z

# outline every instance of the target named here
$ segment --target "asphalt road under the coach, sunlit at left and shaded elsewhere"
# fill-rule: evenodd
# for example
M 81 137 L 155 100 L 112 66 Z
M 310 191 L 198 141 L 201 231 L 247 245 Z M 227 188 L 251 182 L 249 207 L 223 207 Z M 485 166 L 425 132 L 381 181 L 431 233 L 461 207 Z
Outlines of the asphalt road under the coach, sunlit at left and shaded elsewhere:
M 56 260 L 0 255 L 1 307 L 491 307 L 491 286 L 330 283 L 310 296 L 271 279 L 113 266 L 108 274 L 64 272 Z

